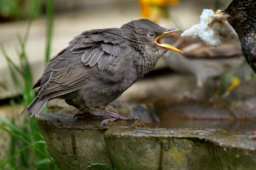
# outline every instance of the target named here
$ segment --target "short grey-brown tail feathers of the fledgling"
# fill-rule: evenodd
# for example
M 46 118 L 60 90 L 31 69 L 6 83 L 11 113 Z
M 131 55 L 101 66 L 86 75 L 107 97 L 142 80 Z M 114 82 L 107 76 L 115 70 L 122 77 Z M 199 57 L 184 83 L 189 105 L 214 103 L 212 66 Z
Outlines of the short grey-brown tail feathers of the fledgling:
M 48 99 L 44 99 L 42 97 L 36 97 L 25 109 L 22 113 L 20 113 L 20 116 L 22 116 L 26 111 L 27 116 L 30 114 L 29 121 L 33 118 L 34 115 L 39 113 L 42 108 L 44 107 L 45 103 L 48 101 Z M 27 117 L 26 116 L 26 117 Z

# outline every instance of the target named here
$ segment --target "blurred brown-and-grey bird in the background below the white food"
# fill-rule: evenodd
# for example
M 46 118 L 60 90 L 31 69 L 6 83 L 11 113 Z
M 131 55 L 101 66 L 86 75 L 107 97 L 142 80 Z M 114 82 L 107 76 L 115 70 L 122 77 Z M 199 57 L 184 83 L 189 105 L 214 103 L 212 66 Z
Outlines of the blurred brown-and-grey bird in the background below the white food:
M 194 74 L 198 88 L 203 87 L 208 77 L 218 77 L 244 62 L 241 48 L 236 45 L 223 43 L 218 47 L 207 47 L 202 40 L 183 38 L 179 33 L 163 37 L 163 42 L 172 44 L 184 53 L 167 51 L 164 54 L 167 65 L 175 71 Z

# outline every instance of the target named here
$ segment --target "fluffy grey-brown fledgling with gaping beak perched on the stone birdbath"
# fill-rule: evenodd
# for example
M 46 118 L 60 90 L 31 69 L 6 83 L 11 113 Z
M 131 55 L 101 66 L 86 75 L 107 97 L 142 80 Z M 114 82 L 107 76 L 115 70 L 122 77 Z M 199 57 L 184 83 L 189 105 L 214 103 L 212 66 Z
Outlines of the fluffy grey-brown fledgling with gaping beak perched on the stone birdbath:
M 117 119 L 138 119 L 104 108 L 151 71 L 166 51 L 181 52 L 161 41 L 163 36 L 178 30 L 140 19 L 121 28 L 84 31 L 48 62 L 33 86 L 39 87 L 38 95 L 21 116 L 27 111 L 32 119 L 47 101 L 58 98 L 85 115 L 100 111 L 112 116 L 101 127 Z

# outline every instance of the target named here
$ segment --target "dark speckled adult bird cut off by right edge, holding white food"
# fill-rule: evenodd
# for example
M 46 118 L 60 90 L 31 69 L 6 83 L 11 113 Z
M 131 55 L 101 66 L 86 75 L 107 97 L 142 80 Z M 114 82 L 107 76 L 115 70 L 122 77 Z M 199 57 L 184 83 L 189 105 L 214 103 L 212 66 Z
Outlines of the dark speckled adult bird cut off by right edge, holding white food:
M 248 64 L 256 73 L 256 0 L 233 0 L 225 9 L 227 20 L 236 30 Z

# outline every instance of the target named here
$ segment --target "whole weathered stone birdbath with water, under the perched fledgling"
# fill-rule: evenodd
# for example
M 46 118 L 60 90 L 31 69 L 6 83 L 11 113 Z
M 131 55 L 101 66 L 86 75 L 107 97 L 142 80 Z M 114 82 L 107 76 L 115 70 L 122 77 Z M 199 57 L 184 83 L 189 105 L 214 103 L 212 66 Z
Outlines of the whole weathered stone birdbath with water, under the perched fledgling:
M 249 139 L 256 130 L 256 95 L 247 93 L 254 85 L 242 84 L 218 101 L 110 105 L 140 117 L 146 127 L 140 121 L 115 121 L 101 130 L 103 118 L 73 119 L 78 110 L 62 102 L 49 103 L 51 109 L 36 121 L 61 170 L 82 170 L 89 163 L 111 167 L 111 161 L 117 170 L 256 170 L 256 141 Z

